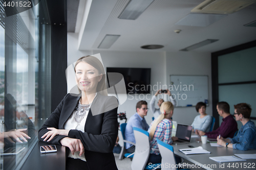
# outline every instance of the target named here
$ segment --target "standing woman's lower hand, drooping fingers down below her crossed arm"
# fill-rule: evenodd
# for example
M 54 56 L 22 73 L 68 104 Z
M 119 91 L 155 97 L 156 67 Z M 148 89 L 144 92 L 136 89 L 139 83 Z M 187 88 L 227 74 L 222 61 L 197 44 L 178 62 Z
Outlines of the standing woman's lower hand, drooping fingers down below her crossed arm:
M 79 156 L 84 153 L 83 144 L 80 139 L 65 137 L 60 140 L 60 143 L 65 147 L 69 147 L 72 155 L 74 155 L 77 151 L 80 151 Z

